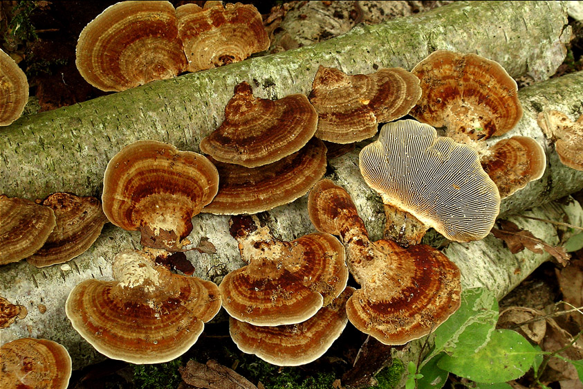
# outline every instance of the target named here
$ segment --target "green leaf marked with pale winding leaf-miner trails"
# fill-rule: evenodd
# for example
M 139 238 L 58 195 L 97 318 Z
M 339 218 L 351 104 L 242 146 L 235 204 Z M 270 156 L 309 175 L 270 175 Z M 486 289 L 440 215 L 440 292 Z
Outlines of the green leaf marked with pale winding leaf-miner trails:
M 472 355 L 488 343 L 498 321 L 498 302 L 484 288 L 465 289 L 461 306 L 434 331 L 434 350 L 422 366 L 442 351 L 452 356 Z

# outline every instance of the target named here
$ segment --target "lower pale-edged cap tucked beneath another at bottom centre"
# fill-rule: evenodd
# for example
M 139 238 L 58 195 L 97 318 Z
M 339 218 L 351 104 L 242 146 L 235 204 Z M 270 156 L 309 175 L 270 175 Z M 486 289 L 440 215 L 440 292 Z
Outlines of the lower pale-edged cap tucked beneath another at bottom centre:
M 292 325 L 259 327 L 230 318 L 230 334 L 239 350 L 255 354 L 272 365 L 297 366 L 320 358 L 342 334 L 348 318 L 346 300 L 354 289 L 344 292 L 308 320 Z

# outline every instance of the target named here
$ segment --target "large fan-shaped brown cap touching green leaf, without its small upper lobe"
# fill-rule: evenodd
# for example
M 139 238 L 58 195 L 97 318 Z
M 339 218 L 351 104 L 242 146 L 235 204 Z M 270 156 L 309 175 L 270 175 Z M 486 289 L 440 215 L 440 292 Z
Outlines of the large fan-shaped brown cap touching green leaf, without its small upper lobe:
M 381 343 L 402 345 L 425 336 L 459 308 L 459 269 L 435 248 L 363 238 L 348 251 L 358 258 L 351 270 L 362 289 L 346 302 L 346 314 Z

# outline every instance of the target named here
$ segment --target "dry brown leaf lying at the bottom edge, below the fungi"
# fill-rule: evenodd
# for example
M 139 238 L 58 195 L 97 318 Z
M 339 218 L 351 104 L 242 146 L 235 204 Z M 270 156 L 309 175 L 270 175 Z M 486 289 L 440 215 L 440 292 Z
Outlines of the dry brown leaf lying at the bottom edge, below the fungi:
M 241 374 L 210 359 L 206 365 L 188 361 L 186 366 L 178 368 L 183 381 L 198 388 L 207 389 L 257 389 Z

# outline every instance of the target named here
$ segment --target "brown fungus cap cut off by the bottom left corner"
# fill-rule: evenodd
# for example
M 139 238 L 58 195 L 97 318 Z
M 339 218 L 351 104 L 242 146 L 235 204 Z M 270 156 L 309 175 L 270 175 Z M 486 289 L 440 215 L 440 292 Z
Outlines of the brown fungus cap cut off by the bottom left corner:
M 0 347 L 0 388 L 66 389 L 71 356 L 59 343 L 20 338 Z

